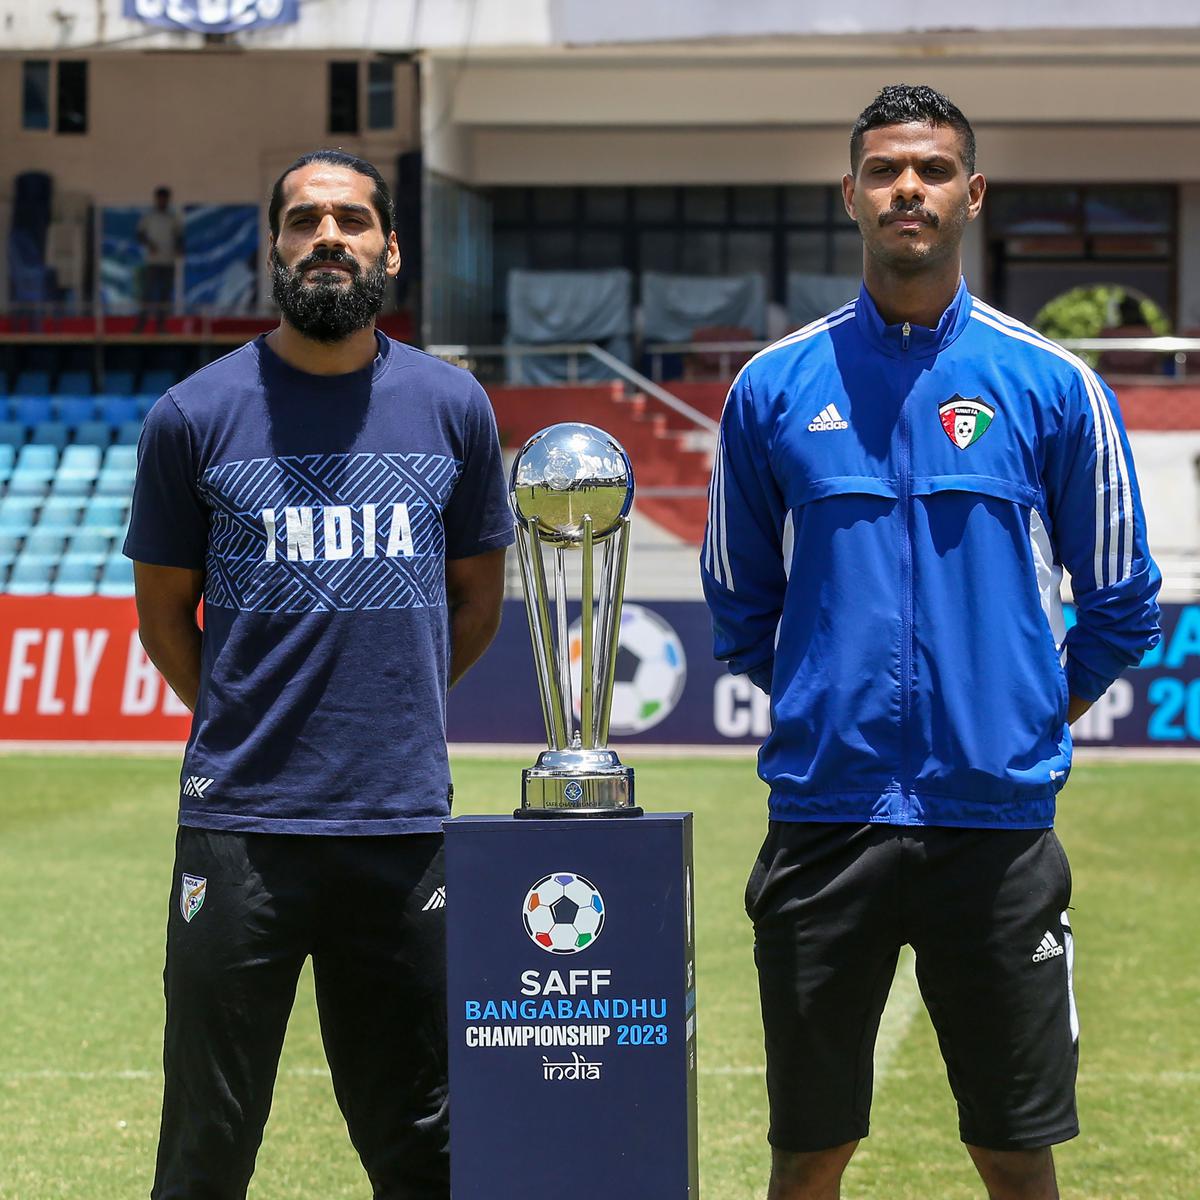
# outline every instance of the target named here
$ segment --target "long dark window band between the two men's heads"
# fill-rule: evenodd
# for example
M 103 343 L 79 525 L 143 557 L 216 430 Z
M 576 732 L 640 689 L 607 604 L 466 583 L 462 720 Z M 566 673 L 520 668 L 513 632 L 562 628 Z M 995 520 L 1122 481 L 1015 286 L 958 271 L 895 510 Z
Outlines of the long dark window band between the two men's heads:
M 862 241 L 833 186 L 496 187 L 493 314 L 510 270 L 624 266 L 678 275 L 761 274 L 786 304 L 791 271 L 859 275 Z

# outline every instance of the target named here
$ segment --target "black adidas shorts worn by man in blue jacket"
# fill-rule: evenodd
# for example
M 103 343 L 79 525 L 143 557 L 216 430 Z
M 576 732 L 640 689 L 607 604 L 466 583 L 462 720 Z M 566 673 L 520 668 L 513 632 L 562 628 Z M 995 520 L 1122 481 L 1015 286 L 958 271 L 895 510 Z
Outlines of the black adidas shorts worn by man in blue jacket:
M 900 947 L 916 952 L 965 1142 L 1079 1133 L 1070 870 L 1050 829 L 773 821 L 746 886 L 773 1146 L 864 1138 Z

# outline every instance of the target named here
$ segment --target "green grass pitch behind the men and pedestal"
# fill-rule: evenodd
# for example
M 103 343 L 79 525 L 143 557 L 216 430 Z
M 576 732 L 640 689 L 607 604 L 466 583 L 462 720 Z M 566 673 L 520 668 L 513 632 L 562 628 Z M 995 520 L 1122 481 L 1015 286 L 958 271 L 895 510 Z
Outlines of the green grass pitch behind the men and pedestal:
M 626 754 L 652 809 L 696 812 L 701 1187 L 761 1200 L 766 1098 L 745 876 L 766 826 L 745 760 Z M 456 763 L 460 812 L 510 810 L 518 761 Z M 146 1195 L 160 1103 L 162 943 L 178 768 L 0 758 L 0 1198 Z M 1200 767 L 1076 769 L 1060 806 L 1075 877 L 1084 1135 L 1063 1195 L 1200 1195 Z M 451 900 L 452 902 L 452 900 Z M 902 962 L 853 1200 L 980 1195 Z M 254 1200 L 366 1198 L 301 983 Z

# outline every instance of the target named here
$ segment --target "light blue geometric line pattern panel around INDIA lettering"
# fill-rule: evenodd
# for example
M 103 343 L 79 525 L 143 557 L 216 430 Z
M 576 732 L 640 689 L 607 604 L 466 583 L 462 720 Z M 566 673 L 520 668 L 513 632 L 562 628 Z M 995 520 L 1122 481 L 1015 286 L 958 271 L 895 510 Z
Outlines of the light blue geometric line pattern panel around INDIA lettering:
M 442 511 L 460 463 L 434 454 L 317 454 L 250 458 L 211 467 L 200 480 L 209 505 L 205 604 L 241 612 L 356 612 L 445 604 Z M 364 557 L 362 505 L 376 509 L 376 554 Z M 388 558 L 392 505 L 404 504 L 413 556 Z M 352 511 L 349 558 L 288 559 L 284 509 L 313 509 L 316 540 L 323 511 Z M 276 554 L 265 558 L 263 510 L 274 509 Z

